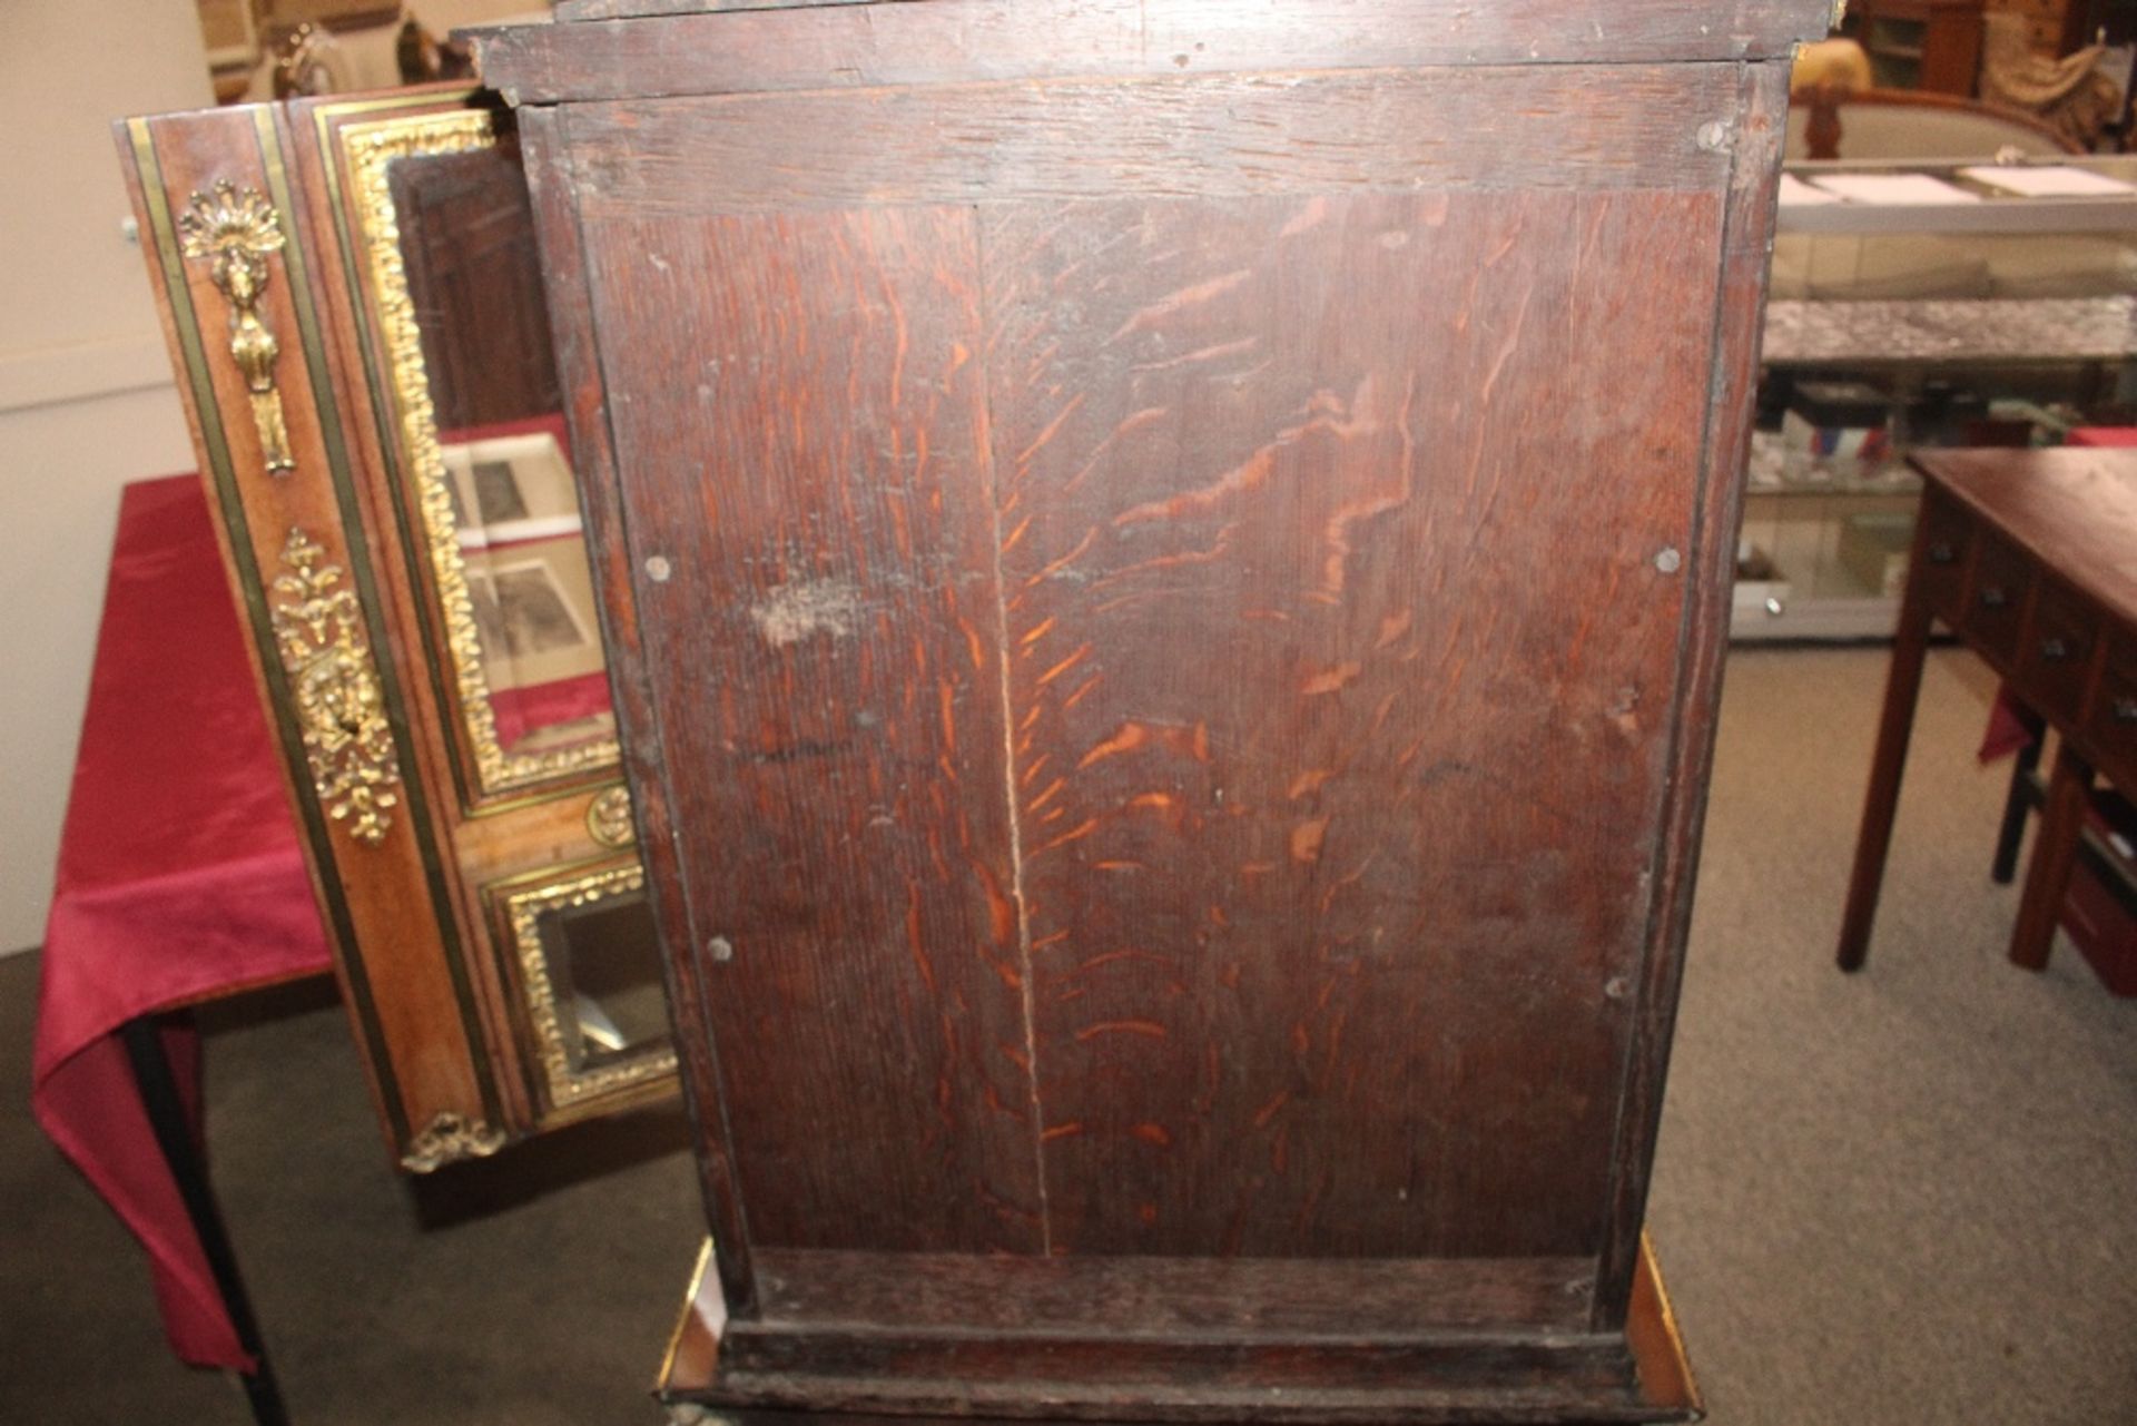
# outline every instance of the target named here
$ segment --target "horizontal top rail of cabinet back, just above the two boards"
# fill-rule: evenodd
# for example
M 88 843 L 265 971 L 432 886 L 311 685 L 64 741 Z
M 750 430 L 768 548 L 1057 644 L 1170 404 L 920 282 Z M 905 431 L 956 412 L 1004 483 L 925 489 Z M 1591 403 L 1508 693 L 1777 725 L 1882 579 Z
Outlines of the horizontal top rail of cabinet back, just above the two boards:
M 1607 103 L 1598 103 L 1607 94 Z M 1135 192 L 1718 186 L 1729 66 L 1425 68 L 575 105 L 588 218 Z M 1566 113 L 1586 113 L 1566 124 Z M 718 184 L 692 182 L 720 173 Z

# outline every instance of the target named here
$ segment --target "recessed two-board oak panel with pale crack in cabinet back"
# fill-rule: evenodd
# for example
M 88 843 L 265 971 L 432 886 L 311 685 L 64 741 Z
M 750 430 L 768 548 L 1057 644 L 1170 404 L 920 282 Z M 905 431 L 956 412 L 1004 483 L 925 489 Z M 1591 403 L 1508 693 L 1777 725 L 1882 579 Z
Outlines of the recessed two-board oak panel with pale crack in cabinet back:
M 1150 88 L 1212 135 L 1235 92 Z M 752 1244 L 1594 1253 L 1699 485 L 1697 124 L 1671 192 L 1376 182 L 1419 137 L 1192 197 L 951 201 L 868 154 L 756 201 L 718 156 L 754 103 L 635 111 L 688 186 L 586 201 Z M 1004 141 L 1026 103 L 960 96 Z

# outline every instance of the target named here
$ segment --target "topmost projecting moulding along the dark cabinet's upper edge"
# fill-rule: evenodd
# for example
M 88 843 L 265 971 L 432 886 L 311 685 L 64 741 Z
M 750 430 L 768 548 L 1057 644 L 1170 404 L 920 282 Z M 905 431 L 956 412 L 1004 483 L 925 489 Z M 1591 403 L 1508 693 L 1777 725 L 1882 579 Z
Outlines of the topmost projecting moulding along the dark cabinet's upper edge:
M 1560 0 L 917 0 L 727 13 L 712 43 L 690 15 L 466 34 L 509 103 L 547 105 L 1062 75 L 1772 60 L 1823 38 L 1829 21 L 1829 0 L 1579 11 Z

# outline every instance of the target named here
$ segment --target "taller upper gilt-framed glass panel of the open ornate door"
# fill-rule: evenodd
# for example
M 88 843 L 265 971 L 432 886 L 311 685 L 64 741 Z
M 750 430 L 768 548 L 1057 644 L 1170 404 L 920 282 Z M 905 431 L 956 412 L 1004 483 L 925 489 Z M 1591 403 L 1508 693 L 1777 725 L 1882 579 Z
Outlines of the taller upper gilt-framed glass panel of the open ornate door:
M 474 800 L 618 755 L 534 218 L 500 122 L 342 130 L 397 511 Z

